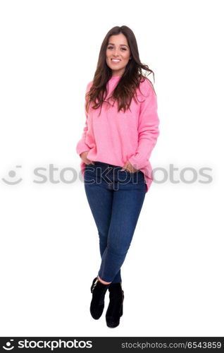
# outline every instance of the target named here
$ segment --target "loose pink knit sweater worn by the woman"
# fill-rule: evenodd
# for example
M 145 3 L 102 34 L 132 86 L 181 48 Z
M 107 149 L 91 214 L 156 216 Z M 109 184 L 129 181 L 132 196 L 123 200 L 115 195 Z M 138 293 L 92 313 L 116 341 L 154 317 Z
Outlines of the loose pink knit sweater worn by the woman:
M 113 76 L 108 80 L 108 95 L 116 87 L 121 76 Z M 86 92 L 92 85 L 88 83 Z M 123 167 L 127 160 L 135 169 L 144 173 L 147 191 L 153 181 L 153 173 L 149 157 L 156 145 L 159 135 L 159 119 L 157 114 L 157 99 L 149 80 L 145 79 L 137 88 L 137 98 L 132 99 L 130 109 L 117 112 L 117 102 L 113 107 L 105 103 L 99 109 L 92 109 L 86 114 L 82 138 L 77 142 L 76 152 L 80 155 L 89 150 L 87 158 L 92 161 L 105 162 Z M 108 97 L 107 95 L 107 97 Z M 144 100 L 144 102 L 142 102 Z M 85 162 L 80 162 L 82 177 L 85 172 Z

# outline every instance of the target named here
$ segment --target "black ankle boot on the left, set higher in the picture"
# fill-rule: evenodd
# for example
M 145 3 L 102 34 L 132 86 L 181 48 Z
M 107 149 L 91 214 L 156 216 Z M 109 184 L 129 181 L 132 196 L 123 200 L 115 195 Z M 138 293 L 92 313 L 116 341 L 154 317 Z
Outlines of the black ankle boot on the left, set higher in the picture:
M 104 311 L 104 297 L 109 286 L 110 284 L 104 285 L 104 283 L 100 282 L 98 277 L 95 277 L 92 281 L 90 288 L 92 293 L 90 313 L 95 320 L 100 318 Z

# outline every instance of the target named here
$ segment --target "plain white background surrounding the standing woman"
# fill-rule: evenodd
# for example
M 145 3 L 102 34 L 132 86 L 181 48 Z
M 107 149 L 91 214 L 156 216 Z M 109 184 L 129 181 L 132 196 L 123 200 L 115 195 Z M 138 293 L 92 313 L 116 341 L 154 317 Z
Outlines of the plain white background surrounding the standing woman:
M 223 336 L 223 1 L 0 4 L 1 336 Z M 180 182 L 151 184 L 111 330 L 108 292 L 99 321 L 89 313 L 99 243 L 75 146 L 86 85 L 116 25 L 133 30 L 155 73 L 161 133 L 151 165 L 170 175 L 173 164 Z M 180 179 L 186 167 L 193 183 Z

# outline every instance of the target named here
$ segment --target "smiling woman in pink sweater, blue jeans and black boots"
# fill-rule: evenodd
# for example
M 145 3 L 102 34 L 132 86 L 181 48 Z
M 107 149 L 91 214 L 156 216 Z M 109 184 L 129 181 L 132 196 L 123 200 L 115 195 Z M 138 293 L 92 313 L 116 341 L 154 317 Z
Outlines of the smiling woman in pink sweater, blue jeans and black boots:
M 85 127 L 76 147 L 101 254 L 90 313 L 101 317 L 108 289 L 106 324 L 111 328 L 123 314 L 120 267 L 153 180 L 149 157 L 159 135 L 156 93 L 142 69 L 153 73 L 139 59 L 132 30 L 112 28 L 87 85 Z

